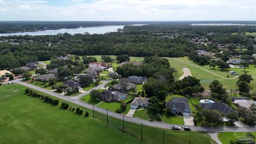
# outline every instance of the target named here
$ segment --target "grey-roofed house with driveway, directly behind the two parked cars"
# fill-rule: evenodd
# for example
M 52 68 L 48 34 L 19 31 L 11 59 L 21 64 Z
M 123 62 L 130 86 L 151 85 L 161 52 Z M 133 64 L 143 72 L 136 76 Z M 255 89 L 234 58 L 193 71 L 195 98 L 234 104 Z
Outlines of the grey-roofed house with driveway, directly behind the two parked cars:
M 173 97 L 172 100 L 167 102 L 166 108 L 170 109 L 174 115 L 190 116 L 191 114 L 187 98 Z

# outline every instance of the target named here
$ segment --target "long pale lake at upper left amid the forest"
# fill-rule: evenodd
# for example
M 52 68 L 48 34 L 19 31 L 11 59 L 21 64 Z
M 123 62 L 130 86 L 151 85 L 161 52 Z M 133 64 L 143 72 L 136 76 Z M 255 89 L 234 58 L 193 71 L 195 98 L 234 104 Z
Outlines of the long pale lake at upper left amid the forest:
M 135 25 L 138 26 L 138 25 Z M 139 25 L 140 26 L 140 25 Z M 102 27 L 80 27 L 80 28 L 70 28 L 70 29 L 49 29 L 43 31 L 30 31 L 30 32 L 19 32 L 19 33 L 5 33 L 0 34 L 0 36 L 14 36 L 14 35 L 57 35 L 59 33 L 64 34 L 83 34 L 85 32 L 89 34 L 105 34 L 107 32 L 117 31 L 118 28 L 123 29 L 124 26 L 102 26 Z

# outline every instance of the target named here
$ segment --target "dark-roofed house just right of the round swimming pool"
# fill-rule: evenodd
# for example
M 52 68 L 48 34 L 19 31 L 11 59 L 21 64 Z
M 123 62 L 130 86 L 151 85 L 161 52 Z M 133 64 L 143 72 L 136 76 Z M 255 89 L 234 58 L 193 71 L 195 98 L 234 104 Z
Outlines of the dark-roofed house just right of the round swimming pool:
M 226 103 L 223 102 L 199 103 L 198 106 L 201 106 L 203 109 L 219 110 L 223 114 L 227 114 L 228 112 L 236 113 L 235 110 L 233 110 Z

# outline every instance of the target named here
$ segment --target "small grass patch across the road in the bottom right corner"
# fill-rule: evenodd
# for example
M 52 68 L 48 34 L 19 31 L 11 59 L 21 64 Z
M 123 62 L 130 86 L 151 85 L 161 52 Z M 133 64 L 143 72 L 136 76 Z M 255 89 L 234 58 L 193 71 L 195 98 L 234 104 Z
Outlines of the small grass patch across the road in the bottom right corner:
M 220 132 L 218 133 L 218 139 L 222 144 L 229 144 L 230 140 L 235 140 L 237 137 L 245 134 L 245 132 Z M 256 132 L 252 132 L 256 135 Z

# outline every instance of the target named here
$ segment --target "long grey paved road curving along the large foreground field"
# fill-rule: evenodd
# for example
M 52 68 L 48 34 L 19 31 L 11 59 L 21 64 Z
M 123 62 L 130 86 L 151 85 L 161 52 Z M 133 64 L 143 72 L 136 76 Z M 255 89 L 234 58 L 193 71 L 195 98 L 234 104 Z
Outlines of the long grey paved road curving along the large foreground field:
M 18 84 L 30 87 L 31 89 L 35 89 L 35 90 L 44 92 L 46 94 L 50 94 L 53 97 L 57 97 L 59 99 L 63 99 L 63 100 L 75 103 L 79 106 L 92 109 L 92 105 L 90 105 L 89 103 L 79 101 L 79 99 L 77 100 L 77 99 L 73 99 L 72 97 L 66 97 L 64 95 L 61 95 L 61 94 L 58 94 L 58 93 L 55 93 L 55 92 L 52 92 L 52 91 L 48 91 L 48 90 L 43 89 L 41 87 L 31 85 L 31 84 L 27 84 L 27 83 L 24 83 L 24 82 L 21 82 L 21 81 L 19 81 Z M 95 89 L 97 89 L 97 88 L 95 87 Z M 106 114 L 106 109 L 94 106 L 94 110 L 98 111 L 99 113 Z M 115 117 L 115 118 L 118 118 L 118 119 L 123 119 L 122 114 L 117 114 L 114 111 L 108 111 L 108 115 L 112 116 L 112 117 Z M 143 123 L 143 125 L 154 126 L 154 127 L 159 127 L 159 128 L 163 128 L 163 129 L 170 129 L 171 126 L 177 125 L 177 124 L 167 124 L 167 123 L 163 123 L 163 122 L 151 122 L 151 121 L 147 121 L 147 120 L 144 120 L 144 119 L 129 117 L 129 116 L 124 116 L 124 119 L 127 122 L 132 122 L 132 123 L 136 123 L 136 124 Z M 180 127 L 183 126 L 184 127 L 186 125 L 177 125 L 177 126 L 180 126 Z M 227 126 L 223 126 L 223 127 L 189 126 L 189 127 L 192 131 L 205 131 L 205 132 L 251 132 L 251 131 L 256 131 L 255 126 L 245 126 L 245 127 L 237 127 L 237 126 L 229 126 L 229 127 L 227 127 Z

